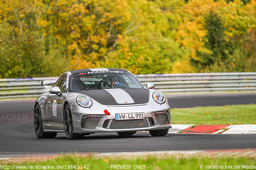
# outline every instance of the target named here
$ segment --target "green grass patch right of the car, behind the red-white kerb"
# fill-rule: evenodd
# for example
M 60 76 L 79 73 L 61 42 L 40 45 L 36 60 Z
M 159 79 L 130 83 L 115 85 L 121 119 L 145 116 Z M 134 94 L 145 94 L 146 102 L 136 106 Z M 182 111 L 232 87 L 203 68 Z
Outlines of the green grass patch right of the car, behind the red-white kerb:
M 256 104 L 171 109 L 172 124 L 256 124 Z

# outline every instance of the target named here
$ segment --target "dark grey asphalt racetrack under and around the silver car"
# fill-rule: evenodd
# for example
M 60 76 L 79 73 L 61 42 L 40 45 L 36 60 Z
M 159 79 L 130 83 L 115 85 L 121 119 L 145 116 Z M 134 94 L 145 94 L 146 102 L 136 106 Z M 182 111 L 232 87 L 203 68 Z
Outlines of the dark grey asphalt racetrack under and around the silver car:
M 2 114 L 29 114 L 28 120 L 0 121 L 0 157 L 36 153 L 133 152 L 174 150 L 220 150 L 256 148 L 256 134 L 168 134 L 151 137 L 137 132 L 131 137 L 116 133 L 95 133 L 82 140 L 68 140 L 64 133 L 55 139 L 37 139 L 33 126 L 35 99 L 0 100 Z M 170 106 L 223 106 L 256 103 L 256 93 L 170 95 Z M 31 115 L 30 115 L 31 114 Z

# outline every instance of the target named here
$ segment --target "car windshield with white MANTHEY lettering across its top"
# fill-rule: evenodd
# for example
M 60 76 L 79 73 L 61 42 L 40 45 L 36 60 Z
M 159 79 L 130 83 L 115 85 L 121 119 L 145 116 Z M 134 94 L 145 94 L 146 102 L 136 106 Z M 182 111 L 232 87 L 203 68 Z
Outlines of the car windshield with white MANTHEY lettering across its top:
M 127 71 L 92 71 L 76 73 L 69 76 L 69 89 L 72 92 L 112 88 L 144 87 L 132 73 Z

